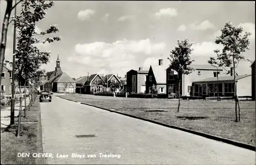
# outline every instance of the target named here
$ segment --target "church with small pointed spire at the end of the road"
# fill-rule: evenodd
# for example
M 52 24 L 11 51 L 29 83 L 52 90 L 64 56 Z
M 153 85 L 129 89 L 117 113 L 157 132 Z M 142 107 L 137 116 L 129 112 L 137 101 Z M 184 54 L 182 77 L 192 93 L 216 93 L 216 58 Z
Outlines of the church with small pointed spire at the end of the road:
M 43 77 L 47 77 L 40 85 L 40 90 L 48 90 L 53 92 L 75 92 L 76 82 L 69 77 L 65 72 L 62 72 L 60 67 L 59 54 L 56 60 L 55 70 L 47 72 Z

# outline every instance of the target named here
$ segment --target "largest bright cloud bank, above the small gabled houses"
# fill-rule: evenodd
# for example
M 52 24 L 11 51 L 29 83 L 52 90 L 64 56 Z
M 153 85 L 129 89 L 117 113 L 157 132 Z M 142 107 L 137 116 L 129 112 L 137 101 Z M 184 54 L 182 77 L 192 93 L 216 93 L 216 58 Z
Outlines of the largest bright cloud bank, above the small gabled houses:
M 164 42 L 154 43 L 148 38 L 137 41 L 123 39 L 113 43 L 78 43 L 74 55 L 68 61 L 123 75 L 127 72 L 123 68 L 131 68 L 139 58 L 160 54 L 164 49 Z

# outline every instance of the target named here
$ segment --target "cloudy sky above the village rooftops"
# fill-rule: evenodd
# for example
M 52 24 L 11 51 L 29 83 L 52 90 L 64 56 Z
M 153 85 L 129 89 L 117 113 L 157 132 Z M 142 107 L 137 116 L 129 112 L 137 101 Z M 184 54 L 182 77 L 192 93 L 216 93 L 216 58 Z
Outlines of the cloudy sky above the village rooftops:
M 91 74 L 116 74 L 124 77 L 131 69 L 148 70 L 163 59 L 169 64 L 170 51 L 177 40 L 194 42 L 194 64 L 207 64 L 216 57 L 216 36 L 226 21 L 251 32 L 246 59 L 255 60 L 255 2 L 246 1 L 54 1 L 45 19 L 36 23 L 37 31 L 58 25 L 61 41 L 39 44 L 51 51 L 50 62 L 42 66 L 55 69 L 59 52 L 60 66 L 70 77 Z M 1 1 L 1 31 L 6 2 Z M 19 4 L 17 15 L 20 13 Z M 14 15 L 14 11 L 11 15 Z M 13 25 L 9 25 L 6 60 L 12 58 Z M 250 63 L 241 61 L 239 75 L 250 74 Z

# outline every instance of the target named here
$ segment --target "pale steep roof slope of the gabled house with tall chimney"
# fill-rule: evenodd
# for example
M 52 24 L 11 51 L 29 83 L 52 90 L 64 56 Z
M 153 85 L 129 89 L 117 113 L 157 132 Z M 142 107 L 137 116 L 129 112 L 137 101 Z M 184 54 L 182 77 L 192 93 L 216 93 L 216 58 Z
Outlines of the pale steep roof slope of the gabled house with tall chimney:
M 169 65 L 151 65 L 156 82 L 158 84 L 166 84 L 166 69 Z

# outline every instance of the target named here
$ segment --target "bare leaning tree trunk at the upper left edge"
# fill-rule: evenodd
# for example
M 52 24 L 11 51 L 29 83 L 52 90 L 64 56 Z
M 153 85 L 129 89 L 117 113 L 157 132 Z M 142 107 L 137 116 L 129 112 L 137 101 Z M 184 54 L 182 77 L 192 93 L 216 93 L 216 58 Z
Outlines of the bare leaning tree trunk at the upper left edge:
M 0 73 L 3 70 L 3 64 L 5 61 L 5 49 L 6 49 L 6 41 L 7 41 L 7 31 L 9 26 L 9 19 L 12 11 L 12 0 L 7 0 L 7 6 L 5 10 L 5 17 L 3 21 L 3 29 L 2 29 L 2 36 L 1 36 L 1 45 L 0 45 Z M 0 79 L 0 84 L 1 84 Z

